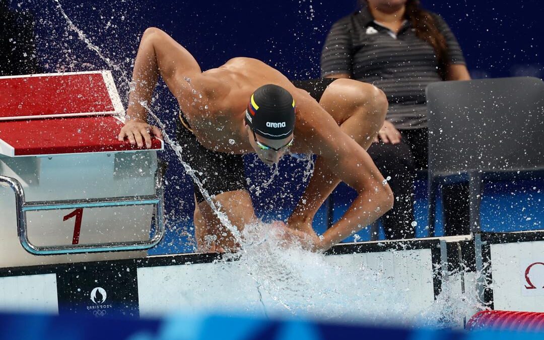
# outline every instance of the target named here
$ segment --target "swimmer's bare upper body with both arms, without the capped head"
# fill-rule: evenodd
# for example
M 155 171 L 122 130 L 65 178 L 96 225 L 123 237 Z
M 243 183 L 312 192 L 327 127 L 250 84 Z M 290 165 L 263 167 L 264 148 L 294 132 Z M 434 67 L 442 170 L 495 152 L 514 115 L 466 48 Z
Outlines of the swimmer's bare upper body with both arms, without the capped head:
M 290 92 L 296 106 L 291 151 L 318 154 L 320 164 L 358 194 L 343 217 L 324 234 L 317 249 L 340 242 L 393 206 L 391 188 L 384 183 L 366 150 L 344 133 L 310 94 L 296 89 L 279 71 L 255 59 L 234 58 L 217 69 L 202 72 L 183 46 L 156 28 L 147 29 L 140 42 L 133 72 L 135 88 L 129 95 L 128 120 L 119 139 L 128 138 L 143 146 L 151 145 L 150 134 L 160 134 L 157 128 L 147 125 L 146 109 L 141 105 L 150 102 L 159 74 L 177 98 L 200 143 L 221 152 L 255 152 L 250 144 L 250 129 L 244 126 L 245 108 L 252 92 L 265 84 L 279 85 Z M 342 101 L 342 96 L 338 100 Z M 376 129 L 383 124 L 385 113 L 386 106 L 374 119 L 380 121 L 374 124 Z M 326 188 L 317 184 L 323 188 L 313 191 L 319 196 L 329 195 L 335 181 L 328 180 L 332 185 L 326 184 Z

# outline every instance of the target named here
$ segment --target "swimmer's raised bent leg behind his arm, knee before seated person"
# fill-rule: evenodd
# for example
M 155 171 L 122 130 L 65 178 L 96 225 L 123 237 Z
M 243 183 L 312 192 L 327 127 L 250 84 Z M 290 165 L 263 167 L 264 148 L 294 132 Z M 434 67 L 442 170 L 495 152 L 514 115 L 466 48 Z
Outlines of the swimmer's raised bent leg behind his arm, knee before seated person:
M 384 92 L 374 85 L 353 79 L 332 82 L 325 89 L 319 104 L 336 120 L 340 129 L 365 150 L 384 124 L 388 107 Z M 288 225 L 310 232 L 314 215 L 339 182 L 335 173 L 318 157 L 312 179 Z

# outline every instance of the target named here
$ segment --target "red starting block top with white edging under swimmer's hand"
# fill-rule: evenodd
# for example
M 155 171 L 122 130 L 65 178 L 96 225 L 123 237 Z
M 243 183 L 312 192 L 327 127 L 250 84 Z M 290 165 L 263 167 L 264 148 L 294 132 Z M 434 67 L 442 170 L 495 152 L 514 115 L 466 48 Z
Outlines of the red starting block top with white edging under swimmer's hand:
M 141 150 L 117 139 L 122 112 L 107 71 L 0 77 L 0 154 Z M 151 149 L 163 141 L 153 138 Z

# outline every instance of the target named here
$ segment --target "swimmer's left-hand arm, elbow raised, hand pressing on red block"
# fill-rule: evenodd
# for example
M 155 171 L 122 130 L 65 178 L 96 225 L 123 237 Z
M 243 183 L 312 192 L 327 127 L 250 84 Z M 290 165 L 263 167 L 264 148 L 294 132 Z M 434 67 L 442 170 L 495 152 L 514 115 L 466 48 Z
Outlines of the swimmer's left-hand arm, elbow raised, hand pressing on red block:
M 127 137 L 131 144 L 151 146 L 148 130 L 160 138 L 160 130 L 147 126 L 147 113 L 142 105 L 149 105 L 158 76 L 164 79 L 176 97 L 183 92 L 183 77 L 201 74 L 200 66 L 193 56 L 168 34 L 158 28 L 148 28 L 140 40 L 138 54 L 134 61 L 132 82 L 134 89 L 128 97 L 126 125 L 119 133 L 119 140 Z

